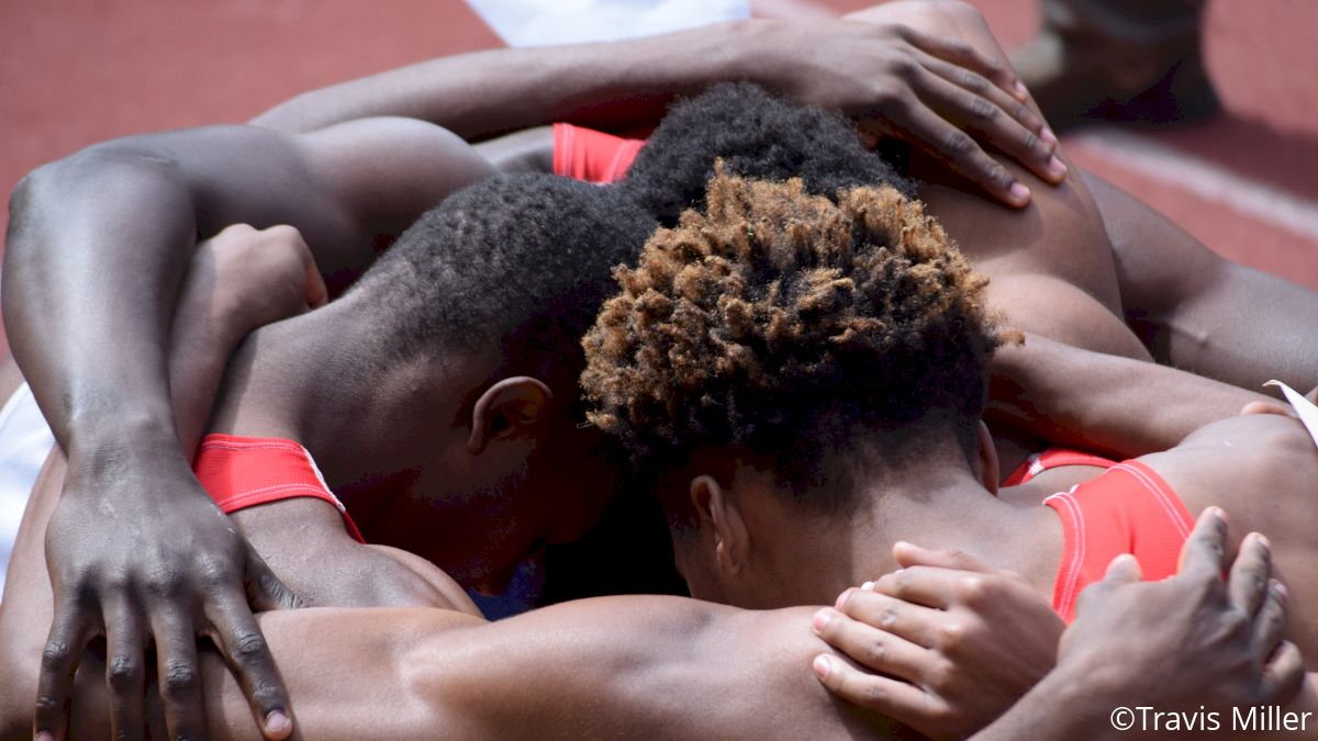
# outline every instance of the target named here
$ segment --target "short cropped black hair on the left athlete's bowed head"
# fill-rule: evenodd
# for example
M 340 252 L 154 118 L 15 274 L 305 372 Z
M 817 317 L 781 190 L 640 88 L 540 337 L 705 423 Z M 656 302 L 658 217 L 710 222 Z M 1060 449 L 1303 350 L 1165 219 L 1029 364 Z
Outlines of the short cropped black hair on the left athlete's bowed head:
M 427 211 L 353 287 L 370 291 L 386 355 L 502 345 L 503 370 L 571 380 L 581 334 L 655 223 L 616 189 L 518 174 Z

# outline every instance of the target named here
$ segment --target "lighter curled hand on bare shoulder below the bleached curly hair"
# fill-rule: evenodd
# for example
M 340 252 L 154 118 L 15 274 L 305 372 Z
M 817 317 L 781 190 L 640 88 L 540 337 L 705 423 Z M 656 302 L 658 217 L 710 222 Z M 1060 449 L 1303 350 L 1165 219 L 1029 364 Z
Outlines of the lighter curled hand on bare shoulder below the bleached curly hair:
M 861 668 L 821 655 L 816 674 L 838 697 L 925 736 L 963 737 L 1048 674 L 1062 621 L 1019 574 L 960 551 L 892 552 L 900 571 L 816 616 L 816 632 Z

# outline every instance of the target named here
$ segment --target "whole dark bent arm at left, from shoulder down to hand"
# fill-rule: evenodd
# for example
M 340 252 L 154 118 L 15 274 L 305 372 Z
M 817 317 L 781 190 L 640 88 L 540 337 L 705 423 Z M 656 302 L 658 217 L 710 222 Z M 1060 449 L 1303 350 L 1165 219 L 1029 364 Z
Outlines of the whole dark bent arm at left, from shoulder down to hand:
M 198 485 L 174 425 L 166 332 L 198 236 L 231 222 L 294 224 L 328 282 L 341 286 L 369 261 L 373 237 L 397 233 L 489 171 L 442 129 L 366 120 L 306 136 L 215 127 L 119 140 L 47 165 L 20 186 L 4 318 L 70 460 L 47 533 L 58 607 L 53 672 L 76 665 L 76 649 L 101 625 L 116 630 L 120 621 L 103 616 L 115 584 L 141 589 L 152 574 L 177 578 L 167 609 L 146 612 L 158 643 L 167 634 L 182 646 L 181 636 L 190 643 L 220 612 L 236 617 L 244 581 L 248 593 L 268 583 Z M 216 566 L 225 583 L 200 589 L 202 571 Z M 221 601 L 229 608 L 216 609 Z M 40 700 L 43 716 L 61 712 L 58 692 Z

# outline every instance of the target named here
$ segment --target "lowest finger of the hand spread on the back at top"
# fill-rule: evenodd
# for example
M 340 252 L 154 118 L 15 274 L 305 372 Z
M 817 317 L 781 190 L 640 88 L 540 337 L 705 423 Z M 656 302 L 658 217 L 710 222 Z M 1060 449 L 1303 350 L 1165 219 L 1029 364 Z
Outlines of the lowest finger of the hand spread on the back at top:
M 1029 189 L 990 157 L 974 137 L 948 123 L 920 102 L 886 112 L 898 133 L 952 171 L 974 182 L 998 200 L 1020 208 L 1029 203 Z

